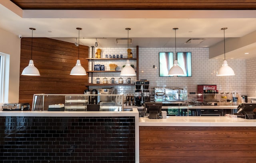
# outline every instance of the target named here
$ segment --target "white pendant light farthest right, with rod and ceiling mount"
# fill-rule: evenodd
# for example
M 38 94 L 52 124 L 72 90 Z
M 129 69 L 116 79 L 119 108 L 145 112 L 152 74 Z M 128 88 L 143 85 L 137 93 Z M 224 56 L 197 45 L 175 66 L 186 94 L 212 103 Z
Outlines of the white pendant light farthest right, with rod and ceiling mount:
M 222 67 L 220 67 L 216 76 L 231 76 L 235 75 L 233 69 L 228 66 L 228 62 L 226 61 L 226 49 L 225 49 L 225 30 L 228 29 L 227 27 L 221 28 L 224 31 L 224 61 Z

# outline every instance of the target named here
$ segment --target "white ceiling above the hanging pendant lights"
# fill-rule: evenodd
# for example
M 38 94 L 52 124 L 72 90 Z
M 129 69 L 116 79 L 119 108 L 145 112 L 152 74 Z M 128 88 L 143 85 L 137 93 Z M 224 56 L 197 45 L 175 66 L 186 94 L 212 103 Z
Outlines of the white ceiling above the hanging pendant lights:
M 256 10 L 22 10 L 9 0 L 0 2 L 0 28 L 31 37 L 29 27 L 34 27 L 33 37 L 50 37 L 75 43 L 76 27 L 81 27 L 80 44 L 89 47 L 98 41 L 98 47 L 127 47 L 117 44 L 117 38 L 127 38 L 129 47 L 212 47 L 223 41 L 222 27 L 228 39 L 240 39 L 256 29 Z M 204 39 L 186 43 L 189 39 Z M 251 58 L 256 56 L 256 37 L 250 45 L 232 47 L 226 58 Z M 228 46 L 228 45 L 227 45 Z M 222 46 L 223 48 L 224 46 Z M 239 47 L 239 48 L 238 48 Z M 249 55 L 244 55 L 249 52 Z M 221 58 L 222 54 L 212 58 Z

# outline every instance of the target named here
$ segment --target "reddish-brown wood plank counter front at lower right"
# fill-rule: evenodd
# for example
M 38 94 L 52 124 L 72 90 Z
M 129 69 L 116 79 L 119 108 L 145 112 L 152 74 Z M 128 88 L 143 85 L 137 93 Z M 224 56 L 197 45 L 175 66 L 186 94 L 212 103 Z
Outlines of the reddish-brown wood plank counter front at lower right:
M 140 163 L 255 163 L 256 127 L 140 126 Z

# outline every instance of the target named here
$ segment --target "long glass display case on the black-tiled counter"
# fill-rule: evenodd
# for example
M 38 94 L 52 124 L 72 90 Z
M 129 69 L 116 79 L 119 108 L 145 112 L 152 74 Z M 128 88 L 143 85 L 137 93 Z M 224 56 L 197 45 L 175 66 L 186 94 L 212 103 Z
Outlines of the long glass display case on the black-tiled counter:
M 34 94 L 32 111 L 124 111 L 123 103 L 123 94 Z

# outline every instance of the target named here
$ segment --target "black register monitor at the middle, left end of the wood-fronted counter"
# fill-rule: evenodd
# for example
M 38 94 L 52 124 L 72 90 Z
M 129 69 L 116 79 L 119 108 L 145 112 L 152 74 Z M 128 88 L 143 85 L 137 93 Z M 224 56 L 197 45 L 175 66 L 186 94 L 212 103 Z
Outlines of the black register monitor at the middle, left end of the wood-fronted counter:
M 162 102 L 146 102 L 146 113 L 149 114 L 150 119 L 159 119 L 159 114 L 162 110 Z

